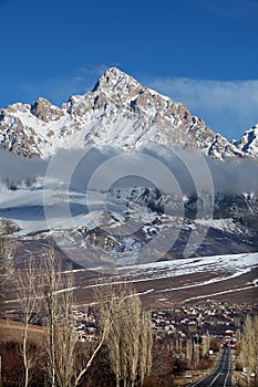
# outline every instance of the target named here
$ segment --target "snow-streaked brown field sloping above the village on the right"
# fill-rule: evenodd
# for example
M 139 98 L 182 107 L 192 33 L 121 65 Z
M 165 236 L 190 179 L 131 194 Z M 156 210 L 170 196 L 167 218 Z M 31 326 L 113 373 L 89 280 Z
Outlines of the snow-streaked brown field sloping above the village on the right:
M 107 283 L 106 275 L 102 276 L 103 268 L 94 269 L 94 272 L 95 270 L 99 272 L 97 283 L 80 283 L 76 291 L 81 294 Z M 74 270 L 75 275 L 83 272 L 87 270 Z M 132 283 L 137 294 L 147 297 L 149 302 L 194 302 L 214 297 L 251 302 L 258 293 L 258 253 L 120 268 L 109 280 L 109 283 L 124 282 Z

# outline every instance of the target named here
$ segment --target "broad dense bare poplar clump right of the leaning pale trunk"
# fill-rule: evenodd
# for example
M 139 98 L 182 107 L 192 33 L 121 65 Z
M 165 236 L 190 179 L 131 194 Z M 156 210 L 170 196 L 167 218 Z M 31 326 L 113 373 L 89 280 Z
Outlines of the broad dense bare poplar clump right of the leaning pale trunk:
M 151 372 L 153 338 L 141 300 L 126 283 L 110 283 L 100 292 L 100 324 L 110 321 L 105 344 L 116 387 L 142 385 Z

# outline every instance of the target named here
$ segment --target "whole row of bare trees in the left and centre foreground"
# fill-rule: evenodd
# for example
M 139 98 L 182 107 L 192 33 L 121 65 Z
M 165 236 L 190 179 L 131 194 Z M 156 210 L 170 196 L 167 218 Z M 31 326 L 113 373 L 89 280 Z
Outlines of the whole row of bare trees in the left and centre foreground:
M 40 264 L 29 257 L 25 268 L 17 271 L 17 285 L 23 316 L 24 387 L 33 381 L 28 334 L 35 315 L 43 316 L 44 356 L 51 387 L 79 386 L 103 346 L 116 387 L 143 385 L 151 373 L 153 338 L 149 316 L 142 311 L 133 287 L 126 283 L 97 284 L 100 334 L 94 345 L 85 344 L 82 349 L 75 332 L 72 270 L 62 272 L 53 249 Z

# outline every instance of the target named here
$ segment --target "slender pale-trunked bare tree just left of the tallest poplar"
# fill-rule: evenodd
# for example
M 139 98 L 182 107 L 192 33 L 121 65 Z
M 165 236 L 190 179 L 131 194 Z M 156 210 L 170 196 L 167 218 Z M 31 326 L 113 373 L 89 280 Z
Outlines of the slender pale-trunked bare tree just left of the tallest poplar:
M 24 269 L 18 269 L 17 271 L 17 292 L 23 315 L 21 355 L 24 365 L 24 387 L 27 387 L 30 380 L 30 369 L 33 366 L 33 355 L 30 353 L 30 344 L 28 342 L 29 324 L 33 322 L 40 297 L 39 270 L 32 257 L 29 257 L 27 260 Z

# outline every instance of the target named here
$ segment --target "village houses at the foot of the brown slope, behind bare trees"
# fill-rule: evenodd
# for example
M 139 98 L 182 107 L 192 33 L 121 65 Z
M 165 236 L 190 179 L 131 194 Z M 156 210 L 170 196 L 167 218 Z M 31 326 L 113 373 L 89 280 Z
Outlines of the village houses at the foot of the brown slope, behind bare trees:
M 258 304 L 229 304 L 207 301 L 198 304 L 182 304 L 166 310 L 152 311 L 152 328 L 157 339 L 213 337 L 236 341 L 247 315 L 257 314 Z M 94 341 L 97 323 L 94 308 L 74 311 L 75 330 L 80 341 Z

